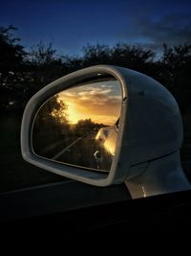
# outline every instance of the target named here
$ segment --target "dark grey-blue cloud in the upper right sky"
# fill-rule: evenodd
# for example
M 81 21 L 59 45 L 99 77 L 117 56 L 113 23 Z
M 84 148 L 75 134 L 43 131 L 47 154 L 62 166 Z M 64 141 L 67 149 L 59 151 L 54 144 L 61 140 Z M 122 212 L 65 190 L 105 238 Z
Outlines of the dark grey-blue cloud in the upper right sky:
M 139 16 L 131 19 L 132 29 L 123 38 L 153 50 L 168 45 L 191 43 L 191 15 L 174 13 L 160 17 Z

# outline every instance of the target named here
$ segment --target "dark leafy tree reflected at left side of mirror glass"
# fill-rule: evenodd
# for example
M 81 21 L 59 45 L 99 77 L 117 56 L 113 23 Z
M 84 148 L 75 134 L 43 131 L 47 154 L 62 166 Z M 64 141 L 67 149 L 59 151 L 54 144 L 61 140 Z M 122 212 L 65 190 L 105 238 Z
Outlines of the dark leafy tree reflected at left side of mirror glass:
M 70 125 L 67 114 L 68 106 L 63 101 L 58 101 L 58 95 L 53 96 L 39 109 L 33 129 L 33 150 L 47 156 L 53 154 L 61 142 L 68 138 Z

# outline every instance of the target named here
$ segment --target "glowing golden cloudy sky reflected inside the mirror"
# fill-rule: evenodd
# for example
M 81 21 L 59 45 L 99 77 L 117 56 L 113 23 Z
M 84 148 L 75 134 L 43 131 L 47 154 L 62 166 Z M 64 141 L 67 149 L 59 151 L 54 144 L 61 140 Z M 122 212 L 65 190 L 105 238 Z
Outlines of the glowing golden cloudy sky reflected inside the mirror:
M 70 124 L 91 119 L 105 126 L 115 125 L 120 116 L 122 92 L 118 81 L 99 81 L 60 92 L 58 101 L 67 106 Z

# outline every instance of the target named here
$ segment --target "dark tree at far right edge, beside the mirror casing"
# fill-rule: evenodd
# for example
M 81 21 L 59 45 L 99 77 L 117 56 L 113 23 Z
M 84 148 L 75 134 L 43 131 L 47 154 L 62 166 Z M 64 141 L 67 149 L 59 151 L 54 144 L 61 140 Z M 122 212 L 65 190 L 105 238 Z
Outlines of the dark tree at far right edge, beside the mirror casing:
M 175 96 L 182 114 L 191 107 L 191 45 L 169 47 L 163 44 L 159 61 L 159 81 Z

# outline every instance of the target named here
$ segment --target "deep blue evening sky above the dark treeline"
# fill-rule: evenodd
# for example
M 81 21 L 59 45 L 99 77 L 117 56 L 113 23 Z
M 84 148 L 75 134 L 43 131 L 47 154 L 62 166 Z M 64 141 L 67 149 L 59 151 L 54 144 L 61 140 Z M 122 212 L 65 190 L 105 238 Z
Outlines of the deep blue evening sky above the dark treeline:
M 190 0 L 0 0 L 0 26 L 15 26 L 27 49 L 53 43 L 59 54 L 79 55 L 89 44 L 119 41 L 158 51 L 191 43 Z

